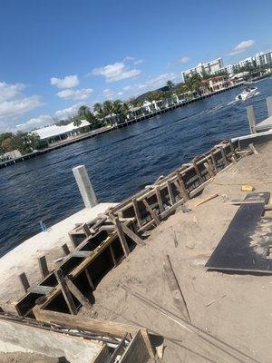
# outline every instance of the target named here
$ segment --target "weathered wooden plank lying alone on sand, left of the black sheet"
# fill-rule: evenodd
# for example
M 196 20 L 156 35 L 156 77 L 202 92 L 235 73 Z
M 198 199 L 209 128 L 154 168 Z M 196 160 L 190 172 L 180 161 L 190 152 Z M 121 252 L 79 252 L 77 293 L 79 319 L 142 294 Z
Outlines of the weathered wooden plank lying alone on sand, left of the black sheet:
M 165 278 L 170 288 L 170 293 L 174 301 L 174 305 L 180 311 L 182 317 L 190 322 L 191 319 L 189 317 L 187 304 L 180 289 L 179 281 L 177 280 L 175 272 L 172 268 L 170 257 L 168 255 L 163 259 L 162 266 Z

